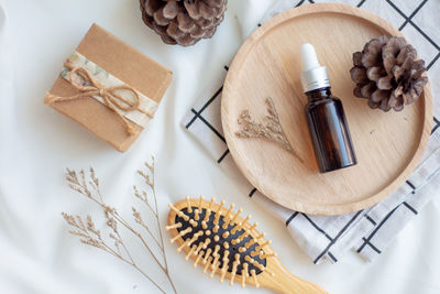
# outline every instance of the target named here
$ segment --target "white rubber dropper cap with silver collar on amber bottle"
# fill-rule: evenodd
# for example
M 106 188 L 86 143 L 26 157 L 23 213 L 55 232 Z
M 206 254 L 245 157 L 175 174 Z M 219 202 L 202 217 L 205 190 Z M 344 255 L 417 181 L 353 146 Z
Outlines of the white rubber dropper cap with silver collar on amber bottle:
M 308 43 L 302 44 L 301 57 L 304 70 L 300 74 L 300 78 L 304 91 L 308 92 L 315 89 L 330 87 L 327 68 L 319 64 L 314 45 Z

